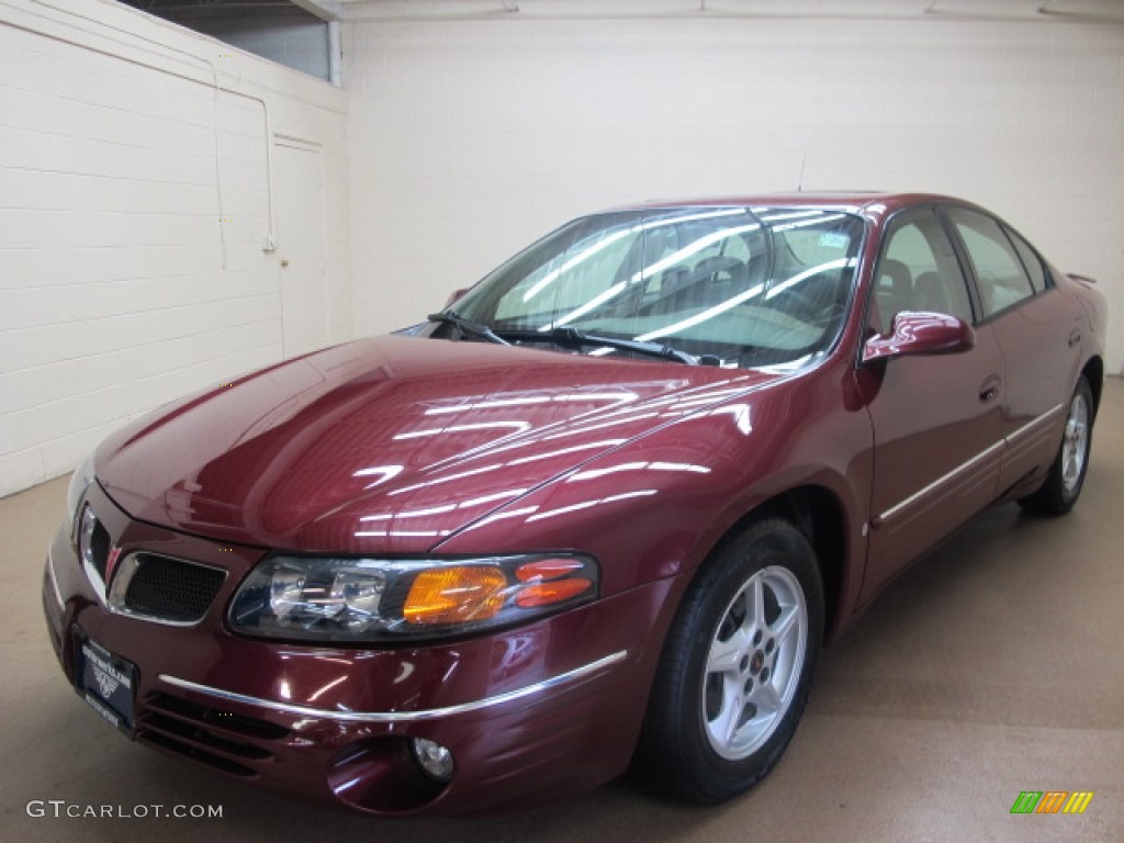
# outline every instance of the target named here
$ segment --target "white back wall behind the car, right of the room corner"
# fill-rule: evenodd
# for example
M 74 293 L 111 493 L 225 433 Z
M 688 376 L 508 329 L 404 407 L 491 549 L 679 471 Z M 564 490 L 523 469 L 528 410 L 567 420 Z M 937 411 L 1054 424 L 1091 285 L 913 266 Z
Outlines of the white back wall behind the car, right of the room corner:
M 1124 26 L 960 20 L 925 3 L 897 20 L 536 19 L 540 6 L 348 27 L 361 332 L 418 321 L 571 216 L 794 190 L 803 169 L 806 189 L 992 208 L 1100 280 L 1106 364 L 1124 365 Z M 631 4 L 645 6 L 670 8 Z

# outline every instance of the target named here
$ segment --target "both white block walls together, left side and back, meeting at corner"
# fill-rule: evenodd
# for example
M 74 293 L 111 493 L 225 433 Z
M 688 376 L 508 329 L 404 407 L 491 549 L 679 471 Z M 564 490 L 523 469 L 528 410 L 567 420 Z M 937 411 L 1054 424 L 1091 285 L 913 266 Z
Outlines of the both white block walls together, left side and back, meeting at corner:
M 807 189 L 992 207 L 1100 279 L 1108 368 L 1124 365 L 1118 22 L 962 20 L 921 0 L 867 20 L 795 0 L 758 6 L 805 17 L 477 6 L 495 8 L 350 3 L 465 19 L 348 24 L 341 91 L 109 0 L 0 0 L 0 495 L 280 359 L 272 135 L 323 152 L 334 342 L 423 318 L 577 214 L 791 190 L 803 170 Z

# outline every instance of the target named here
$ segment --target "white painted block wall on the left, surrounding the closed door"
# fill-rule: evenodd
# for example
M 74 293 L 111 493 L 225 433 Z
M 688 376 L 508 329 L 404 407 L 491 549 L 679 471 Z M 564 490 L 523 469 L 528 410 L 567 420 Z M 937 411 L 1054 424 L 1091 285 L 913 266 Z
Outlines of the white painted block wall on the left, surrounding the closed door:
M 107 0 L 0 2 L 0 495 L 281 357 L 271 134 L 321 145 L 352 336 L 338 89 Z

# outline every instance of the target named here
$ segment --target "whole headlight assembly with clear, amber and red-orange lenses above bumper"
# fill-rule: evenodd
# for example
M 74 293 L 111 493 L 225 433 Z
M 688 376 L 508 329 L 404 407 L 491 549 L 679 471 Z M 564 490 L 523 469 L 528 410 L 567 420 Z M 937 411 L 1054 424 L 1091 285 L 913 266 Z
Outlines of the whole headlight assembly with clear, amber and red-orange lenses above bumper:
M 230 604 L 230 628 L 290 641 L 436 638 L 507 626 L 598 596 L 600 571 L 580 554 L 448 560 L 277 555 Z

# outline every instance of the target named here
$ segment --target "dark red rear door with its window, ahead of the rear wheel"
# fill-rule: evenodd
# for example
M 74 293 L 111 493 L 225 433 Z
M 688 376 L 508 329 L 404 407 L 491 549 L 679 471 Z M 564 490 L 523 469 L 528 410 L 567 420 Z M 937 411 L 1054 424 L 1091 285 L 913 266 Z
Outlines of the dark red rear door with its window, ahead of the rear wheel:
M 979 293 L 981 318 L 1006 359 L 1000 491 L 1041 477 L 1054 459 L 1073 389 L 1080 312 L 1054 289 L 1018 234 L 971 208 L 944 209 Z

